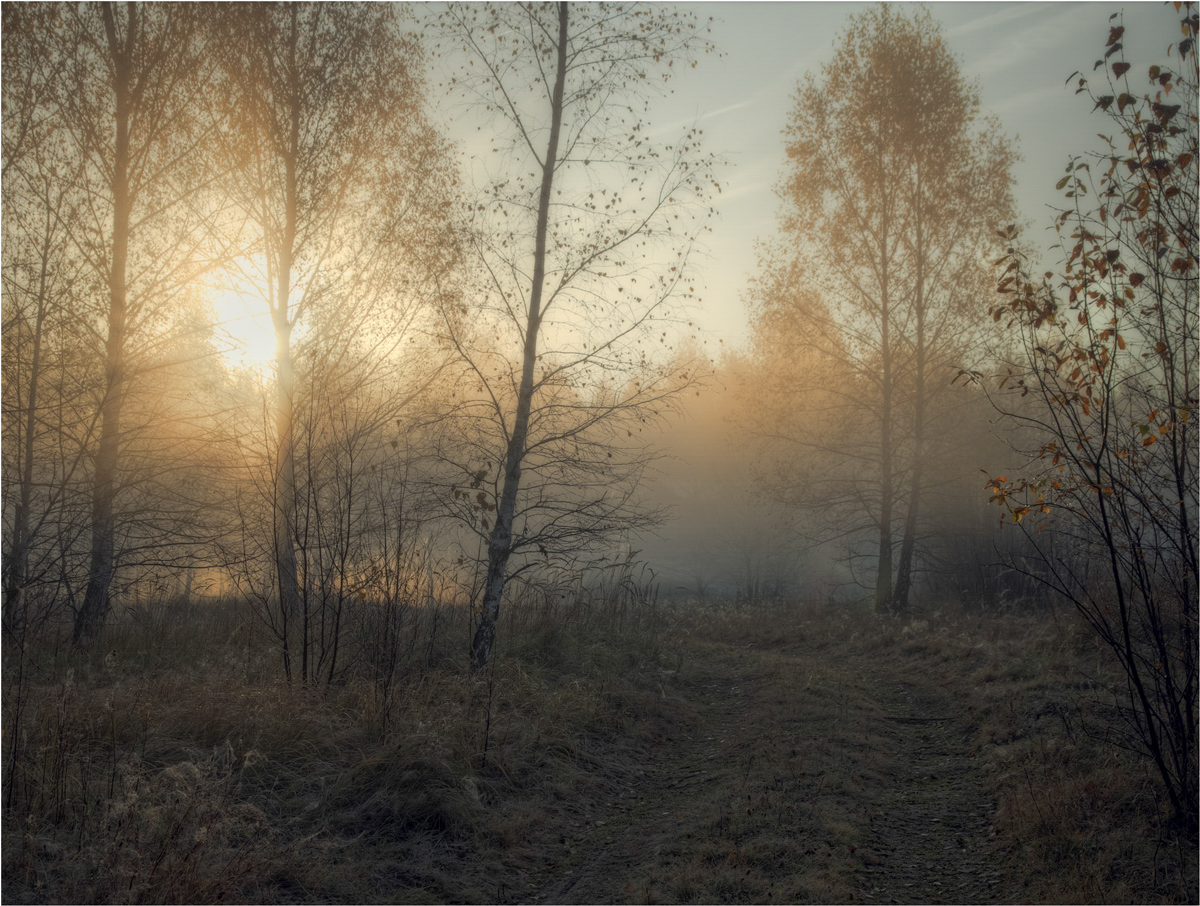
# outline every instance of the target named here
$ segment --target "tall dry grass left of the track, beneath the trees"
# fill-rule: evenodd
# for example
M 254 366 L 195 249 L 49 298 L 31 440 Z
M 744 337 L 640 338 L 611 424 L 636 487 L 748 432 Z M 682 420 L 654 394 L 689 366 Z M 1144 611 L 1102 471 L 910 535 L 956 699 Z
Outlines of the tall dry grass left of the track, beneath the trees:
M 322 688 L 281 680 L 235 600 L 120 612 L 88 650 L 53 632 L 6 650 L 4 898 L 371 900 L 400 859 L 418 900 L 486 899 L 428 841 L 503 848 L 497 802 L 570 778 L 589 737 L 653 706 L 629 683 L 658 656 L 653 595 L 517 600 L 478 679 L 468 607 L 353 616 L 355 656 Z

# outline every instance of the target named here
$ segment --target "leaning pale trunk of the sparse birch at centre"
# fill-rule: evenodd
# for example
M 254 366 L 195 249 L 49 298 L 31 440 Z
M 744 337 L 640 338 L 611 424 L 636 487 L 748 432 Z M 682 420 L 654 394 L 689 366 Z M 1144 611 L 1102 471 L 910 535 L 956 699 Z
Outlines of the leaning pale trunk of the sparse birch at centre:
M 517 412 L 512 420 L 512 436 L 504 461 L 504 485 L 496 508 L 496 524 L 487 542 L 487 578 L 484 583 L 484 606 L 479 628 L 472 644 L 470 672 L 487 666 L 496 642 L 496 622 L 500 613 L 500 598 L 508 580 L 509 556 L 512 553 L 512 516 L 516 512 L 517 491 L 521 487 L 521 463 L 529 434 L 529 412 L 533 408 L 533 373 L 538 362 L 538 331 L 541 328 L 541 292 L 546 278 L 546 232 L 550 223 L 550 197 L 558 164 L 558 137 L 563 125 L 563 90 L 566 83 L 565 2 L 558 5 L 558 64 L 554 94 L 551 101 L 550 142 L 541 168 L 541 193 L 538 198 L 538 227 L 534 247 L 533 287 L 529 292 L 529 317 L 526 322 L 524 361 Z

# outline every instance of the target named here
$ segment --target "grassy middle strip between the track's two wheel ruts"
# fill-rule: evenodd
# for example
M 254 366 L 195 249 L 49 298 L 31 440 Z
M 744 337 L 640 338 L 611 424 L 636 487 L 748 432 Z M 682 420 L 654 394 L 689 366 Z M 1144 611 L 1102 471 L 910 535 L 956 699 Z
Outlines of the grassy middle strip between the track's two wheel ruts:
M 720 646 L 690 654 L 684 682 L 707 685 L 690 691 L 708 702 L 703 720 L 685 727 L 686 755 L 673 764 L 674 782 L 690 794 L 622 899 L 853 901 L 864 763 L 847 745 L 840 671 L 766 656 L 746 676 L 745 662 Z

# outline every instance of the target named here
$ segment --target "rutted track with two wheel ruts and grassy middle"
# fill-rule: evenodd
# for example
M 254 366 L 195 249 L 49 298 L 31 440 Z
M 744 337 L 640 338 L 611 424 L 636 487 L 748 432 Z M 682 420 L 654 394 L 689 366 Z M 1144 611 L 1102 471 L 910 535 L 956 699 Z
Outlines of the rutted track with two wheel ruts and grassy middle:
M 1019 899 L 947 690 L 868 658 L 709 646 L 683 715 L 582 815 L 535 902 Z

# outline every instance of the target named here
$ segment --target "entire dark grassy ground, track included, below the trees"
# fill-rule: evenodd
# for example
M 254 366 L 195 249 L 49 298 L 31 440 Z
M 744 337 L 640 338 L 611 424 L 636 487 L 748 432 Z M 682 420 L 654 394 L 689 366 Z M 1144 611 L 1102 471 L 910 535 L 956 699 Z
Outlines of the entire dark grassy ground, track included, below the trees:
M 289 688 L 236 602 L 5 653 L 10 902 L 1198 902 L 1066 612 L 520 604 Z

